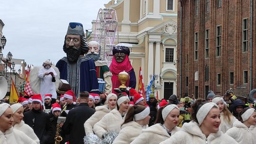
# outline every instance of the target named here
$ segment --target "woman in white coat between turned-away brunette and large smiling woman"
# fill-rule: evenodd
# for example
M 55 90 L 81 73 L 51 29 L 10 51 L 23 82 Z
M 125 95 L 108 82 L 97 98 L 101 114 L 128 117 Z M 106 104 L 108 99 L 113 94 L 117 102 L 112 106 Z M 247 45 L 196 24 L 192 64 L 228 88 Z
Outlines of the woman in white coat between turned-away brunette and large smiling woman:
M 174 135 L 181 128 L 178 127 L 179 108 L 172 104 L 158 110 L 156 123 L 142 130 L 142 133 L 131 144 L 159 144 Z

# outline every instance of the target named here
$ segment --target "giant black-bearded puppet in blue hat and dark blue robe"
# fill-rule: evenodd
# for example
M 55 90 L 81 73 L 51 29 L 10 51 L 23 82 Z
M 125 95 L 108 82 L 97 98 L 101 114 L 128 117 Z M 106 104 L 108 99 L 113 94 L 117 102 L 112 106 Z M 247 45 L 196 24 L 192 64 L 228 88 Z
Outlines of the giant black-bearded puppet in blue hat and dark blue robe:
M 60 71 L 60 78 L 67 80 L 75 97 L 82 91 L 99 93 L 99 84 L 93 60 L 84 56 L 88 52 L 88 45 L 81 23 L 69 23 L 63 50 L 67 54 L 56 64 Z

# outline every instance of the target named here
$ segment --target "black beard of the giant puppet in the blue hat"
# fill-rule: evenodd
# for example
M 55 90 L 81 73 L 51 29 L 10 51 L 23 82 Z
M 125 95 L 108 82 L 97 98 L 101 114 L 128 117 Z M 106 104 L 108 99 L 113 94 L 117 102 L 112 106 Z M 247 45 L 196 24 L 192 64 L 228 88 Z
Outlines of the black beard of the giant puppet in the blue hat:
M 70 63 L 76 62 L 81 54 L 82 49 L 80 47 L 69 46 L 63 49 L 67 54 L 67 59 Z

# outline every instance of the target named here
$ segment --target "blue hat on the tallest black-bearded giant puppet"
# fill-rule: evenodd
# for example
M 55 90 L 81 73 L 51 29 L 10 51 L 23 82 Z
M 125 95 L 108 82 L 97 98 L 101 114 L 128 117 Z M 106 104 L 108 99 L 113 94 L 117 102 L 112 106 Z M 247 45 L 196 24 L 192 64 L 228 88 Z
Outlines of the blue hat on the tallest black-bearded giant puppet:
M 84 35 L 82 24 L 76 22 L 69 23 L 67 35 Z

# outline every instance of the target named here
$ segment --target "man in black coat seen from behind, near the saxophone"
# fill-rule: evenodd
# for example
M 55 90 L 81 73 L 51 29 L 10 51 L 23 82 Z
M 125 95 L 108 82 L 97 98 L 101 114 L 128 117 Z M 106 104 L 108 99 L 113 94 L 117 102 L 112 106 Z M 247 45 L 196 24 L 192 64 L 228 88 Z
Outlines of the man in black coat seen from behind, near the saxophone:
M 87 91 L 80 93 L 79 99 L 80 103 L 78 107 L 68 112 L 66 121 L 62 127 L 63 132 L 69 135 L 70 144 L 84 144 L 83 137 L 85 136 L 85 130 L 83 124 L 95 113 L 95 110 L 87 104 L 89 99 L 89 93 Z

